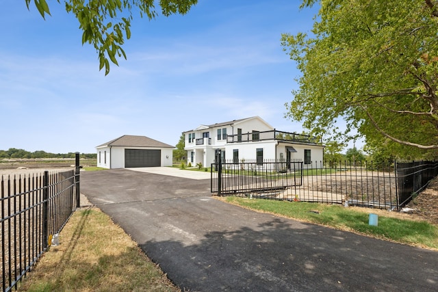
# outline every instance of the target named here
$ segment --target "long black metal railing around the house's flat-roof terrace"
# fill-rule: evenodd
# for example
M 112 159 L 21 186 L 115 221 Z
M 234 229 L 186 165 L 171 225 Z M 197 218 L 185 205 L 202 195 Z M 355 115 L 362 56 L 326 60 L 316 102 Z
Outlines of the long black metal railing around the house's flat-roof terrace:
M 255 142 L 255 141 L 264 141 L 264 140 L 279 140 L 279 141 L 311 143 L 311 144 L 318 144 L 318 142 L 320 142 L 318 137 L 302 135 L 297 133 L 276 131 L 276 130 L 228 135 L 227 137 L 227 143 Z

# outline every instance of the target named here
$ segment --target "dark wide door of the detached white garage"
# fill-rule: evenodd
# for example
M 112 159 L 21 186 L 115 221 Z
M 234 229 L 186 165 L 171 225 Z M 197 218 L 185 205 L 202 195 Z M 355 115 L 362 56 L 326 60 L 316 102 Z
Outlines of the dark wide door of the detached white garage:
M 125 149 L 125 168 L 161 166 L 162 150 Z

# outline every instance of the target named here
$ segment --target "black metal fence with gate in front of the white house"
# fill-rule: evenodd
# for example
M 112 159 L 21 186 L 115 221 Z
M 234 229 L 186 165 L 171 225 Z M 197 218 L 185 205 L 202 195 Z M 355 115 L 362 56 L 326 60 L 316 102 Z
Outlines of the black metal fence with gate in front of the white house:
M 211 164 L 211 192 L 400 210 L 437 174 L 430 161 L 224 161 Z

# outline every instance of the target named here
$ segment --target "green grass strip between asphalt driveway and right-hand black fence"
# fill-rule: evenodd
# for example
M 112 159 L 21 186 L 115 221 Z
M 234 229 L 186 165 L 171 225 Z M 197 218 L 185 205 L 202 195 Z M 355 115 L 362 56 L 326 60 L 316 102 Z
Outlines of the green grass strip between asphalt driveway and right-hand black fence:
M 378 226 L 368 224 L 368 213 L 380 210 L 341 207 L 309 202 L 287 202 L 226 197 L 226 202 L 255 211 L 347 230 L 361 235 L 438 250 L 438 226 L 425 221 L 378 215 Z M 380 214 L 388 211 L 380 211 Z M 395 212 L 394 212 L 395 213 Z

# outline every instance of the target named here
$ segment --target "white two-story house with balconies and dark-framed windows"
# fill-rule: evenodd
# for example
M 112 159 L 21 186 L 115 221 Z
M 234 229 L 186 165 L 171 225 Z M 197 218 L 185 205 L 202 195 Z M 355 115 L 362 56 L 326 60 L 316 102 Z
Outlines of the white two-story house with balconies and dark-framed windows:
M 324 146 L 315 137 L 276 131 L 268 122 L 254 116 L 229 122 L 201 125 L 185 131 L 188 161 L 208 167 L 221 150 L 221 160 L 240 161 L 303 161 L 305 168 L 318 168 Z M 317 165 L 318 164 L 318 165 Z

